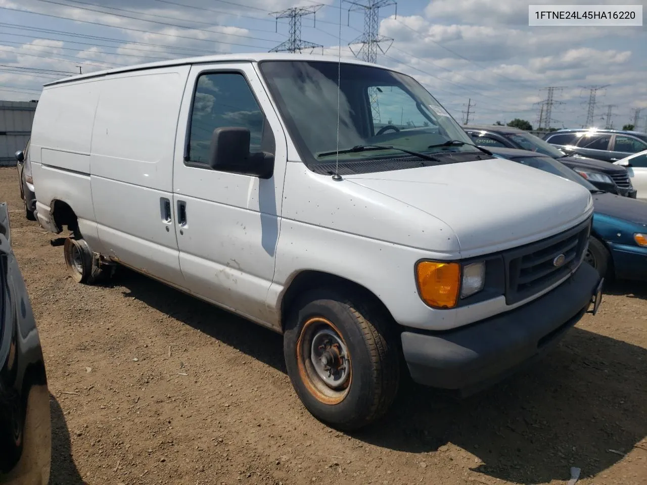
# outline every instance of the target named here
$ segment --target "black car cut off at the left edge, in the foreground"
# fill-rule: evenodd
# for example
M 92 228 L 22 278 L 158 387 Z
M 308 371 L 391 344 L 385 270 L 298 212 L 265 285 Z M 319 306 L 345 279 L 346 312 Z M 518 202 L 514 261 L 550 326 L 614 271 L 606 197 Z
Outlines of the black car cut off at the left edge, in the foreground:
M 0 203 L 0 484 L 49 481 L 51 425 L 47 375 L 25 281 Z

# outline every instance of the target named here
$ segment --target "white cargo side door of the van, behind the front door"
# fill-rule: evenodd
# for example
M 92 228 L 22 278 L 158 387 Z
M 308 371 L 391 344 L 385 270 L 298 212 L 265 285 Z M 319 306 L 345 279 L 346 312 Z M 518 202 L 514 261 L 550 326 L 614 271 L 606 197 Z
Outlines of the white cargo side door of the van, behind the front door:
M 177 239 L 165 213 L 170 208 L 174 219 L 173 153 L 189 69 L 141 70 L 98 81 L 90 156 L 105 255 L 179 286 Z

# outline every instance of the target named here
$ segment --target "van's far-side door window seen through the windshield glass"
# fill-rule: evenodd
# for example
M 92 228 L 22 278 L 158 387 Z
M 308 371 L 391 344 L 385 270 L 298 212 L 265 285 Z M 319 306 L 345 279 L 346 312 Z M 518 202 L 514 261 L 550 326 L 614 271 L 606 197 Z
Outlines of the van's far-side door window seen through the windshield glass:
M 419 111 L 413 98 L 397 86 L 370 87 L 367 94 L 371 103 L 374 135 L 389 125 L 399 130 L 433 126 Z M 393 129 L 385 131 L 392 132 Z

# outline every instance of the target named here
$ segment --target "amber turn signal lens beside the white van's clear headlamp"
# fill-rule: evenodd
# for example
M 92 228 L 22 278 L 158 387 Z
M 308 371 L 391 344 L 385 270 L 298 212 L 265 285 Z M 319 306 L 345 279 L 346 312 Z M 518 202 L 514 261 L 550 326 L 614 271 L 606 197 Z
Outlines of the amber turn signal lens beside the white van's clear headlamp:
M 461 291 L 461 265 L 439 261 L 420 261 L 416 268 L 418 291 L 433 308 L 454 308 Z

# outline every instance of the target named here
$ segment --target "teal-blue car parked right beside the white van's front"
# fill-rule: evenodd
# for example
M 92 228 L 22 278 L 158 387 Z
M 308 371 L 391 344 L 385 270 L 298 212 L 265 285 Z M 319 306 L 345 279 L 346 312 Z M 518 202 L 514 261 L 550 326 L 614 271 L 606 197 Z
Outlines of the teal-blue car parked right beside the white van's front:
M 494 156 L 573 180 L 593 195 L 593 226 L 584 256 L 602 276 L 647 281 L 647 202 L 601 191 L 558 160 L 527 150 L 488 148 Z

